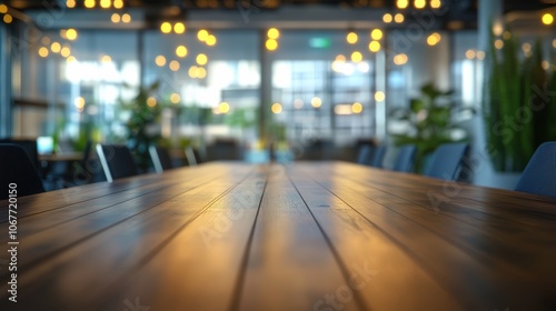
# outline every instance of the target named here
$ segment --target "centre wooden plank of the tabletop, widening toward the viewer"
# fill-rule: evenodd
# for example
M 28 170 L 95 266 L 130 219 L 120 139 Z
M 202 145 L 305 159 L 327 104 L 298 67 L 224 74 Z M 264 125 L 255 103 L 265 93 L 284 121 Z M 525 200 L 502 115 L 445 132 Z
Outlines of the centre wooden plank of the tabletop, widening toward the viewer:
M 327 310 L 327 299 L 350 302 L 337 301 L 341 310 L 365 310 L 348 282 L 284 169 L 272 167 L 232 310 Z

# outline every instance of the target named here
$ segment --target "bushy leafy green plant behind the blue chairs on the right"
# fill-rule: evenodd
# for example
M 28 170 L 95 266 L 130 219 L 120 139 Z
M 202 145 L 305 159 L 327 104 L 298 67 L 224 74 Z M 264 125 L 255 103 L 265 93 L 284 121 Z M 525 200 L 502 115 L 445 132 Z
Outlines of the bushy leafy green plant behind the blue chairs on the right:
M 405 121 L 408 124 L 408 131 L 405 133 L 393 133 L 396 146 L 415 144 L 417 153 L 415 159 L 415 169 L 423 172 L 425 169 L 425 159 L 433 153 L 438 146 L 447 142 L 461 141 L 455 140 L 453 133 L 456 130 L 464 131 L 454 121 L 457 113 L 473 109 L 459 108 L 451 100 L 453 91 L 440 91 L 433 83 L 421 87 L 421 97 L 409 101 L 409 108 L 394 109 L 390 116 L 398 121 Z

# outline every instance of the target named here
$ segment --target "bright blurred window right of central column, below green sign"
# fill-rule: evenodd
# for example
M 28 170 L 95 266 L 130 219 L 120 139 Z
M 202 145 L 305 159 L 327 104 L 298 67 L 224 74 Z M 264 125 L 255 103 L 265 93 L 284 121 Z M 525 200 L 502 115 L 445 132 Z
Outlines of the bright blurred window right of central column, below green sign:
M 268 52 L 272 71 L 274 123 L 287 138 L 320 139 L 337 146 L 374 134 L 375 56 L 368 31 L 346 42 L 347 31 L 284 31 Z M 357 56 L 359 54 L 359 56 Z

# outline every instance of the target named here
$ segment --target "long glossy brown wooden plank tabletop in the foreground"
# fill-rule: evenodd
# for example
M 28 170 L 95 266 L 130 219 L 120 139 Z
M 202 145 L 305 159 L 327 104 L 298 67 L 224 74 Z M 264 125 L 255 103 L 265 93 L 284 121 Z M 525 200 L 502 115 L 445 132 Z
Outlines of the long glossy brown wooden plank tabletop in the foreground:
M 18 303 L 2 250 L 1 310 L 556 310 L 553 198 L 217 162 L 18 208 Z

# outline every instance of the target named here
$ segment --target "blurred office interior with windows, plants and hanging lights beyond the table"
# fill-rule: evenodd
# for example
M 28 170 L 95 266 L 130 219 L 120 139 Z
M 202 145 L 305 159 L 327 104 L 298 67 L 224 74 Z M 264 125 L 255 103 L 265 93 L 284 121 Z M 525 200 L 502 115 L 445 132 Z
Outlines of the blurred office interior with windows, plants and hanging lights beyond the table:
M 138 141 L 175 162 L 387 146 L 384 168 L 469 141 L 470 181 L 512 189 L 556 140 L 556 1 L 1 3 L 0 138 L 37 141 L 51 189 L 101 180 L 76 182 L 91 144 Z

